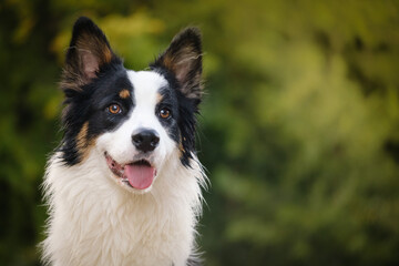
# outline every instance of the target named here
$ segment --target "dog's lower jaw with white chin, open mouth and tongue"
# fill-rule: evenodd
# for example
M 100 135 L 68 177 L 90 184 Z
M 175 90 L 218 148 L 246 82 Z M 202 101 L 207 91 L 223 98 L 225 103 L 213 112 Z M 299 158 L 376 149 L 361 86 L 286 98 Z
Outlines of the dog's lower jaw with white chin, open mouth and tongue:
M 104 157 L 111 171 L 110 176 L 119 186 L 135 194 L 145 194 L 152 190 L 157 171 L 149 158 L 137 157 L 127 163 L 119 163 L 106 152 Z

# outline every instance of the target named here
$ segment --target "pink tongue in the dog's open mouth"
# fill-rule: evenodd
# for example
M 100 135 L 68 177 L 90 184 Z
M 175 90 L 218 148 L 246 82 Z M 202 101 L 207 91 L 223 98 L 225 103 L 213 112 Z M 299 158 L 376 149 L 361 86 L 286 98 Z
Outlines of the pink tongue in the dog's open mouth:
M 127 164 L 124 167 L 124 175 L 127 177 L 131 186 L 144 190 L 151 186 L 155 176 L 155 168 L 149 165 Z

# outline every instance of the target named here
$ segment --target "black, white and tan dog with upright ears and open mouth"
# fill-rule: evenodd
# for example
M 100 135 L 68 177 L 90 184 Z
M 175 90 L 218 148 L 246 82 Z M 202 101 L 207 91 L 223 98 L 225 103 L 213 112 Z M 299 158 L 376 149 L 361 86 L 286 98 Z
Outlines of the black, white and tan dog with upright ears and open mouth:
M 136 72 L 92 20 L 76 20 L 60 82 L 63 139 L 43 181 L 45 264 L 196 265 L 202 83 L 197 28 Z

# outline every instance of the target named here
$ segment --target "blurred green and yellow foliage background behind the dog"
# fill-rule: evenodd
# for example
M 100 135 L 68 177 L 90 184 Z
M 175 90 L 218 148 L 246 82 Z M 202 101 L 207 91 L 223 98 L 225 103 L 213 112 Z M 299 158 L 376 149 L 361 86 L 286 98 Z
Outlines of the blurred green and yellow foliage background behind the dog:
M 0 1 L 0 265 L 40 265 L 79 16 L 135 70 L 202 29 L 205 265 L 399 265 L 396 0 Z

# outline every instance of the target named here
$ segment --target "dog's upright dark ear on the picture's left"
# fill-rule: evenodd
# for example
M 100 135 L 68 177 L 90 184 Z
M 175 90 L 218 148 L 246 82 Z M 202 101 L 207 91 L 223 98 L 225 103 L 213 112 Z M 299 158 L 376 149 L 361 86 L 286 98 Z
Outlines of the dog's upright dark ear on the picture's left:
M 72 39 L 66 52 L 61 86 L 80 91 L 95 78 L 101 66 L 116 60 L 105 34 L 92 20 L 81 17 L 73 25 Z

